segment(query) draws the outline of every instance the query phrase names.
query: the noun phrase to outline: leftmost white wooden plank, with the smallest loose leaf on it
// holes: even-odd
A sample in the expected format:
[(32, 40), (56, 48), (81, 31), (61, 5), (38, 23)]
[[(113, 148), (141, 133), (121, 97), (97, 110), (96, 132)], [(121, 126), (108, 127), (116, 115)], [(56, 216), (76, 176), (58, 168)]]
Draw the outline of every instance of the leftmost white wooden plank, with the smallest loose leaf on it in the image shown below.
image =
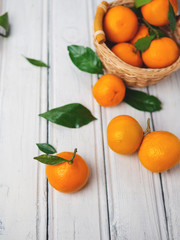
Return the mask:
[(3, 1), (11, 34), (0, 39), (0, 239), (46, 239), (44, 166), (33, 157), (46, 141), (46, 69), (28, 56), (47, 61), (47, 1)]

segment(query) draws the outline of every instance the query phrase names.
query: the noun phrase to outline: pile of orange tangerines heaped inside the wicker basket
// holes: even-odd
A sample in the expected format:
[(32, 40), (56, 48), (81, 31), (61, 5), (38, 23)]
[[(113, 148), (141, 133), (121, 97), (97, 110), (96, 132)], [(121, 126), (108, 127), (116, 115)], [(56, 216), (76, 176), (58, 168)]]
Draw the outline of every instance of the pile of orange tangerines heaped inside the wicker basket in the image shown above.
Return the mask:
[[(176, 15), (178, 3), (176, 0), (170, 2)], [(130, 8), (125, 6), (110, 8), (104, 17), (103, 26), (110, 45), (115, 44), (111, 51), (135, 67), (164, 68), (173, 64), (179, 57), (179, 48), (171, 38), (160, 37), (156, 28), (154, 28), (156, 37), (149, 48), (140, 52), (135, 47), (139, 39), (150, 36), (149, 28), (169, 24), (168, 11), (168, 0), (153, 0), (141, 7), (142, 18), (138, 22), (138, 17)]]

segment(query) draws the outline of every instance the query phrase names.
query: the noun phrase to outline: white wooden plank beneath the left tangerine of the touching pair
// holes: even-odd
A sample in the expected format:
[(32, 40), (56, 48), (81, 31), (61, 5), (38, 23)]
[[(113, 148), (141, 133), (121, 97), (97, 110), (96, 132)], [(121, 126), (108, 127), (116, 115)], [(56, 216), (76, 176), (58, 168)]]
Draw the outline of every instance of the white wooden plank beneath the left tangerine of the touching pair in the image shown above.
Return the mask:
[(111, 239), (167, 239), (159, 175), (144, 169), (137, 153), (123, 156), (108, 148), (107, 125), (121, 114), (137, 119), (143, 129), (150, 117), (125, 103), (102, 109)]

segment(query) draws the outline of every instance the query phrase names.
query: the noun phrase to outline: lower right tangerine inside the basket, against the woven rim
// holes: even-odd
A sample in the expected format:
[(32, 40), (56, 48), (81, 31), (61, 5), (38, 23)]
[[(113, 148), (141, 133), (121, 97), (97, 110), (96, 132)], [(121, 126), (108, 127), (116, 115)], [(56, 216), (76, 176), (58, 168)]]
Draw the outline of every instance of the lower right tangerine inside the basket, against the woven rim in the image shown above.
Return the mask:
[(151, 42), (150, 47), (142, 53), (142, 59), (150, 68), (163, 68), (173, 64), (179, 57), (179, 48), (171, 38), (163, 37)]

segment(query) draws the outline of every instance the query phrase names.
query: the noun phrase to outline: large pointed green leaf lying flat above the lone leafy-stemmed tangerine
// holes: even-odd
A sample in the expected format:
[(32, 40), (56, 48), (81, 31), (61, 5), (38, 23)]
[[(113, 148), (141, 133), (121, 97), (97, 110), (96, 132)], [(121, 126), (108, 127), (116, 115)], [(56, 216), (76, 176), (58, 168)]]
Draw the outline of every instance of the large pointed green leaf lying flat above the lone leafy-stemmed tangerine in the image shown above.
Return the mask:
[(96, 120), (91, 112), (80, 103), (71, 103), (54, 108), (48, 112), (39, 114), (39, 116), (68, 128), (79, 128)]

